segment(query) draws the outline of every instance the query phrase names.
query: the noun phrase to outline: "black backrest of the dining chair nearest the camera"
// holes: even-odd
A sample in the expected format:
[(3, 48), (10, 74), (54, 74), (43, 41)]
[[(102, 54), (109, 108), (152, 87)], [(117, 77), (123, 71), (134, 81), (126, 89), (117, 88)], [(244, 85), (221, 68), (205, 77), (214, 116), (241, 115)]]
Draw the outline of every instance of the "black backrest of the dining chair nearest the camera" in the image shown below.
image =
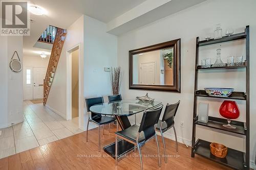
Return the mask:
[(145, 141), (156, 134), (155, 125), (158, 123), (162, 109), (163, 105), (161, 105), (161, 107), (156, 110), (144, 111), (141, 119), (139, 133), (144, 133)]

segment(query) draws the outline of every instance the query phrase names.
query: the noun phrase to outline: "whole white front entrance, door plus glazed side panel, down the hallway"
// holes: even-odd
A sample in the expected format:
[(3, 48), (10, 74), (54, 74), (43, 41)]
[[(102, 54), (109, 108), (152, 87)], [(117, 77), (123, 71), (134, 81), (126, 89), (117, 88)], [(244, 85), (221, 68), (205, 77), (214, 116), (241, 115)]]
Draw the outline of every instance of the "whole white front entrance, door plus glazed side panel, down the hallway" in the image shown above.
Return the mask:
[(42, 99), (44, 97), (44, 67), (25, 67), (24, 70), (24, 100)]

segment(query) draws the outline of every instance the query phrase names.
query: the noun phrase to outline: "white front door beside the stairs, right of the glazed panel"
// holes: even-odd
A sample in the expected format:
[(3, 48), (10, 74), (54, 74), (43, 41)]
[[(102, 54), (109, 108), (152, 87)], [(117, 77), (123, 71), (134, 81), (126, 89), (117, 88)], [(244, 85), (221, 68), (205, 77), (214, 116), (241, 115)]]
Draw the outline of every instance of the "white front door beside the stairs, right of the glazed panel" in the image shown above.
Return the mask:
[(46, 68), (33, 67), (33, 99), (44, 98)]

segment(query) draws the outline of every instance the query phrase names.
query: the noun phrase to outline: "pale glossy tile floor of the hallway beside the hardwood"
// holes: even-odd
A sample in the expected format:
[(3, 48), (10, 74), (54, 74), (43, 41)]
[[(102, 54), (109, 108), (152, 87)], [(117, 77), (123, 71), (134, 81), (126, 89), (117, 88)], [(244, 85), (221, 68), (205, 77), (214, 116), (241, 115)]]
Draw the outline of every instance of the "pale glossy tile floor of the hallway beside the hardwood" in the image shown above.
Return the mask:
[(30, 101), (24, 101), (24, 122), (0, 131), (0, 159), (83, 132), (78, 117), (65, 120)]

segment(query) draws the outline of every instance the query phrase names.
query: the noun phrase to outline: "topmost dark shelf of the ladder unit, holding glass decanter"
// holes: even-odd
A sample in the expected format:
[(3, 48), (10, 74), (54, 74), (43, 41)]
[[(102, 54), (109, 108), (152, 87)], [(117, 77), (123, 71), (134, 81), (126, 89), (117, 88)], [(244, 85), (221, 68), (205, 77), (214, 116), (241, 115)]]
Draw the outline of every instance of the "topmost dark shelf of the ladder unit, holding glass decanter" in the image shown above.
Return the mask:
[(212, 39), (209, 39), (209, 40), (198, 41), (197, 45), (204, 46), (204, 45), (210, 45), (210, 44), (217, 44), (217, 43), (221, 43), (221, 42), (241, 40), (241, 39), (245, 39), (245, 38), (246, 38), (245, 33), (239, 33), (239, 34), (233, 34), (233, 35), (230, 35), (230, 36), (223, 36), (220, 39), (212, 38)]

